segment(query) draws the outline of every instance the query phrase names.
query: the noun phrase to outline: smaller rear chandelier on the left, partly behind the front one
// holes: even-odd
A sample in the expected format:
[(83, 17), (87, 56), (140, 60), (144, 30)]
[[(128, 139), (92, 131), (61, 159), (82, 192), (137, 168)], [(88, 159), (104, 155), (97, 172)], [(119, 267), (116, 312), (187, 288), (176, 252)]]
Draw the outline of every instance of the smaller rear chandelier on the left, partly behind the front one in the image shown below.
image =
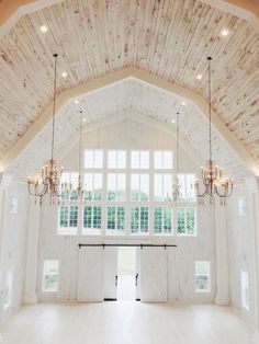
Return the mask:
[(78, 154), (78, 181), (61, 182), (63, 200), (69, 199), (72, 203), (82, 204), (85, 202), (85, 191), (81, 176), (81, 153), (82, 153), (82, 111), (79, 116), (79, 154)]

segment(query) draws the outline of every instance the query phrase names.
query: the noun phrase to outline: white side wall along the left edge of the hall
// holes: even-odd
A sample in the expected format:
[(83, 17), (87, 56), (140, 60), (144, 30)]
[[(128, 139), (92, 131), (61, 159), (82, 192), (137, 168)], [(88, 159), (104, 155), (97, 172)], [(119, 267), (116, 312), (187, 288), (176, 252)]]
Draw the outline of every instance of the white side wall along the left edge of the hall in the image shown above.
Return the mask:
[[(27, 191), (25, 185), (11, 182), (0, 188), (0, 322), (10, 318), (21, 306), (26, 248)], [(12, 276), (10, 306), (4, 307), (7, 276)]]

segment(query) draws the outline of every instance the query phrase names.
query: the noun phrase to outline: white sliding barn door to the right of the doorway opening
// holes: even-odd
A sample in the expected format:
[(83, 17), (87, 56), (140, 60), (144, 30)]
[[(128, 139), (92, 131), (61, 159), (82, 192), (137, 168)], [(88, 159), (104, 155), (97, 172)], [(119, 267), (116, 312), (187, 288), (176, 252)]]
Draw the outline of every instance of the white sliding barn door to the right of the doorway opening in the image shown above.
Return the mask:
[(165, 248), (140, 249), (140, 300), (167, 301), (167, 251)]

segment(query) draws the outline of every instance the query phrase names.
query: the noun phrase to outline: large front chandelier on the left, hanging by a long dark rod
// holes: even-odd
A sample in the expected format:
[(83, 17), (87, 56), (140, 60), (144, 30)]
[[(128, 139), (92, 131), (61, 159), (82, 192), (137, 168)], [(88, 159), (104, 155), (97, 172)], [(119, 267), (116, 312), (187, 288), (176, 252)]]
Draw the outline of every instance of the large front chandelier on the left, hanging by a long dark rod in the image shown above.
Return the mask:
[[(54, 54), (54, 91), (53, 91), (53, 130), (52, 130), (52, 158), (47, 163), (42, 167), (41, 177), (31, 179), (27, 177), (27, 190), (30, 195), (40, 199), (42, 205), (42, 198), (44, 195), (49, 196), (49, 204), (55, 204), (58, 200), (59, 204), (59, 184), (63, 174), (63, 168), (59, 168), (54, 160), (54, 144), (55, 144), (55, 112), (56, 112), (56, 83), (57, 83), (57, 57), (58, 54)], [(37, 198), (38, 197), (38, 198)]]

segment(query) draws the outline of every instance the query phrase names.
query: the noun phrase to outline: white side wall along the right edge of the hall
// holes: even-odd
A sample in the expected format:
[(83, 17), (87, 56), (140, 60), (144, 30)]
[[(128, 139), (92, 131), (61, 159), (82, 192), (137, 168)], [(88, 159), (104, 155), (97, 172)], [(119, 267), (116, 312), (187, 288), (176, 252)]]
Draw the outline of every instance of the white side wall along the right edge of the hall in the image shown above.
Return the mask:
[[(246, 204), (244, 215), (238, 213), (238, 203), (241, 199)], [(252, 213), (252, 198), (246, 184), (237, 185), (227, 203), (230, 302), (249, 321), (254, 321), (255, 318), (255, 293), (258, 293), (255, 290)], [(249, 311), (241, 306), (241, 271), (246, 271), (249, 275)]]

